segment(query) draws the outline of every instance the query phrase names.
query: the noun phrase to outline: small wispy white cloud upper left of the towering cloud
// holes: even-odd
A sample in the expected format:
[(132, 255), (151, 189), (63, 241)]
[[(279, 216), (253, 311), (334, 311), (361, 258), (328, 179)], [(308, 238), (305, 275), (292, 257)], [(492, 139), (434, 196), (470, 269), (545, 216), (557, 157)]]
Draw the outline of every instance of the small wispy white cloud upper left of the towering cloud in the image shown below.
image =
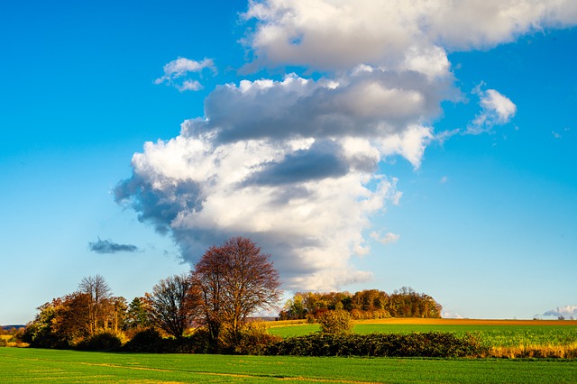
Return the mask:
[(213, 59), (203, 59), (202, 61), (179, 58), (170, 61), (163, 67), (164, 76), (154, 80), (154, 84), (166, 84), (177, 88), (180, 92), (197, 91), (203, 88), (198, 80), (187, 78), (191, 73), (200, 74), (204, 69), (212, 70), (216, 73)]

